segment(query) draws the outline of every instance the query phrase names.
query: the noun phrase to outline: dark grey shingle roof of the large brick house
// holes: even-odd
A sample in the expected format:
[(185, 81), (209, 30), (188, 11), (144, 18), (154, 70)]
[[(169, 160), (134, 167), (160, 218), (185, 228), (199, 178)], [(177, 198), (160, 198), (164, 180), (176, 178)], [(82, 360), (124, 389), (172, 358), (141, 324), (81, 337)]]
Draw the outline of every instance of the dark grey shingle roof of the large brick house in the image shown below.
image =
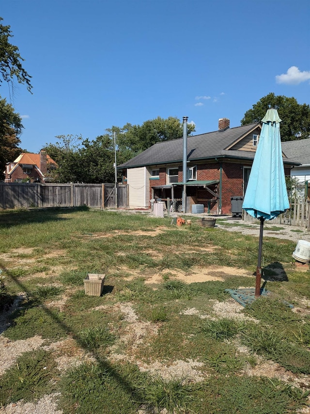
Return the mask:
[[(215, 158), (230, 158), (253, 160), (255, 152), (233, 149), (233, 146), (243, 139), (251, 131), (260, 127), (260, 122), (255, 122), (240, 127), (227, 128), (225, 130), (203, 133), (187, 137), (187, 160), (199, 161)], [(154, 166), (182, 162), (183, 138), (160, 142), (136, 157), (118, 166), (118, 168), (134, 168), (139, 166)], [(298, 165), (290, 159), (283, 159), (285, 164)]]

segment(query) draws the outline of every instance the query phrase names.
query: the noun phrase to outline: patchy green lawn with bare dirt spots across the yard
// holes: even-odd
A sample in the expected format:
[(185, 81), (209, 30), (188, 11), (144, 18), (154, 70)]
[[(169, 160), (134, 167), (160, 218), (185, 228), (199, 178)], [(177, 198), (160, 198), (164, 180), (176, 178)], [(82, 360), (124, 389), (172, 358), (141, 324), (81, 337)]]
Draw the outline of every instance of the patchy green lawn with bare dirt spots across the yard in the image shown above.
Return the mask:
[[(225, 289), (255, 286), (258, 238), (190, 218), (1, 211), (0, 407), (51, 395), (64, 414), (310, 412), (295, 243), (264, 237), (270, 295), (243, 308)], [(85, 295), (87, 273), (106, 274), (101, 297)]]

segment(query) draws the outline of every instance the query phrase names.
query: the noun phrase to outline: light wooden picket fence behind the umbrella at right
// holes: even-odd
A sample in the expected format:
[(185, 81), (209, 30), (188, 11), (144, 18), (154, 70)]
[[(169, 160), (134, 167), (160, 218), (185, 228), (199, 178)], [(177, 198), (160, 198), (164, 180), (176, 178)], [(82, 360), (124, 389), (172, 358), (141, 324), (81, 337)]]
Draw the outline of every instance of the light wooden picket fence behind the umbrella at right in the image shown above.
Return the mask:
[[(256, 218), (242, 210), (245, 221), (256, 221)], [(288, 224), (290, 226), (306, 227), (310, 230), (310, 201), (304, 197), (295, 197), (291, 202), (291, 208), (285, 213), (269, 221), (274, 224)]]

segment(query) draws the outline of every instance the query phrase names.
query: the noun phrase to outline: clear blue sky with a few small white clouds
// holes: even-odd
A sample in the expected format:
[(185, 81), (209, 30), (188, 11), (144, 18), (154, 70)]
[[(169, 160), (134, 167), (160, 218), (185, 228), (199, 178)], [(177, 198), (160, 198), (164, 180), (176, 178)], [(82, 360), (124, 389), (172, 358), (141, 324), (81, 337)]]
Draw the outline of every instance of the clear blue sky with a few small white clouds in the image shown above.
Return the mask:
[(31, 152), (157, 116), (239, 126), (270, 92), (310, 104), (308, 0), (2, 0), (0, 16), (32, 76), (33, 95), (0, 87)]

